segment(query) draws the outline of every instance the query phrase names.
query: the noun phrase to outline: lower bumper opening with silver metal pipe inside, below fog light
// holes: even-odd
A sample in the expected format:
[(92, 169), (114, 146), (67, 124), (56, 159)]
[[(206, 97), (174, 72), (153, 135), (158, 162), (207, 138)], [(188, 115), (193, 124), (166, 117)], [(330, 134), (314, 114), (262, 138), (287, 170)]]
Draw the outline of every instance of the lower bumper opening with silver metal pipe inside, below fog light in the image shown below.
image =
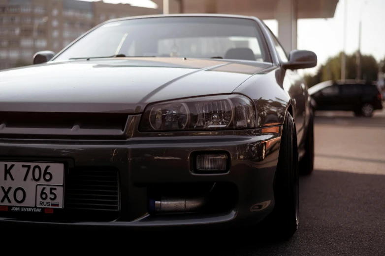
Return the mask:
[(230, 182), (164, 183), (148, 186), (151, 215), (222, 214), (234, 209), (238, 190)]

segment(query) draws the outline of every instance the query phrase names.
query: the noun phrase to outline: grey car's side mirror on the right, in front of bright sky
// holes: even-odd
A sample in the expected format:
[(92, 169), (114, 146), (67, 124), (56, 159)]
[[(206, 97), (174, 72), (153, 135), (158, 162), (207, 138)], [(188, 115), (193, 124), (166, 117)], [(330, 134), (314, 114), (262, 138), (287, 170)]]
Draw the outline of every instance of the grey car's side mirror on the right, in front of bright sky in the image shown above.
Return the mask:
[(317, 66), (317, 55), (313, 51), (293, 50), (290, 51), (289, 61), (284, 63), (285, 69), (308, 69)]

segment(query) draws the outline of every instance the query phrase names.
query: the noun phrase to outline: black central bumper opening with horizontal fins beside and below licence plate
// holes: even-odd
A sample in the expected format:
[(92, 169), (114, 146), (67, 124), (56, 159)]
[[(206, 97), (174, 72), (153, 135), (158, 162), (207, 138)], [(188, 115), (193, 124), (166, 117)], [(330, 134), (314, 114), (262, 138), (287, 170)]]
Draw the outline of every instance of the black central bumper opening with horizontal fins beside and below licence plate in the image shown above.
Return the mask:
[[(18, 208), (12, 211), (12, 208)], [(116, 168), (69, 168), (64, 178), (64, 208), (7, 206), (0, 217), (22, 221), (74, 223), (79, 221), (109, 222), (120, 217), (120, 182)], [(30, 207), (27, 207), (30, 208)]]

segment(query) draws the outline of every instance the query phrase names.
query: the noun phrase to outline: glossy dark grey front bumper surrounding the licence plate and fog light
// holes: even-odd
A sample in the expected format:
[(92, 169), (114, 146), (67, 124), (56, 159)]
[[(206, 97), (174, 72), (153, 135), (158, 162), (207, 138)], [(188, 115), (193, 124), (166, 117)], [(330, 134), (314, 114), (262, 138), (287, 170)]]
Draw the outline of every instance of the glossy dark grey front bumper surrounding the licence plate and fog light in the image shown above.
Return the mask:
[[(275, 126), (237, 132), (197, 132), (191, 136), (132, 136), (122, 141), (1, 139), (0, 159), (3, 161), (61, 161), (72, 171), (87, 167), (115, 168), (120, 196), (119, 211), (106, 219), (93, 220), (91, 217), (100, 213), (94, 210), (82, 211), (81, 218), (76, 211), (71, 217), (62, 213), (60, 218), (55, 212), (35, 217), (32, 213), (16, 216), (12, 212), (0, 211), (0, 222), (22, 226), (138, 230), (256, 224), (274, 207), (273, 181), (281, 131), (282, 126)], [(219, 151), (229, 155), (228, 172), (193, 172), (194, 153)], [(172, 191), (173, 185), (199, 187), (205, 183), (223, 185), (213, 199), (221, 202), (223, 208), (161, 215), (149, 210), (150, 188), (156, 191), (167, 187)], [(174, 196), (179, 196), (178, 193), (175, 189)], [(65, 206), (64, 197), (64, 210)]]

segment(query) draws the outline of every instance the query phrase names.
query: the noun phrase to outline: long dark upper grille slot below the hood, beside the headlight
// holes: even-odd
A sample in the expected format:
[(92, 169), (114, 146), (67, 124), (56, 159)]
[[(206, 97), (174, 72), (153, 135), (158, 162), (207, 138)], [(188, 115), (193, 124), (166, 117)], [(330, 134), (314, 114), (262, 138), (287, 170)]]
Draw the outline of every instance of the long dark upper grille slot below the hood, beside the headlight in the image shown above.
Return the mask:
[(123, 136), (128, 114), (1, 112), (1, 137), (92, 137)]

